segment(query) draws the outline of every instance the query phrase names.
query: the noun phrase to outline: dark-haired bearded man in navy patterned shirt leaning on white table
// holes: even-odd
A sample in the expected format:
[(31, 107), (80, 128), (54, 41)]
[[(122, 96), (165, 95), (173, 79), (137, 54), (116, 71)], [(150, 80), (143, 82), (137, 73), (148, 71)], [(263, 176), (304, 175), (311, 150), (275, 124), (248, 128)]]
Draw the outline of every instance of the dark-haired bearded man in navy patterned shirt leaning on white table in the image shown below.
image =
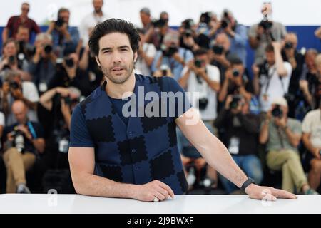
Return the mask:
[[(238, 187), (243, 186), (250, 197), (295, 199), (289, 192), (253, 184), (235, 165), (224, 145), (193, 115), (194, 110), (188, 104), (174, 99), (171, 103), (175, 107), (165, 110), (166, 117), (148, 117), (149, 111), (136, 117), (137, 112), (142, 114), (141, 110), (150, 104), (145, 107), (143, 102), (135, 107), (133, 98), (129, 102), (134, 106), (133, 115), (127, 115), (123, 111), (123, 108), (128, 110), (126, 98), (137, 97), (138, 88), (153, 95), (162, 91), (180, 92), (180, 102), (188, 103), (183, 89), (173, 78), (133, 73), (138, 43), (139, 35), (133, 24), (116, 19), (98, 24), (89, 40), (106, 81), (73, 110), (68, 157), (78, 194), (157, 202), (173, 197), (174, 192), (185, 192), (187, 183), (175, 142), (175, 125), (178, 125), (208, 164)], [(159, 103), (158, 98), (152, 102)]]

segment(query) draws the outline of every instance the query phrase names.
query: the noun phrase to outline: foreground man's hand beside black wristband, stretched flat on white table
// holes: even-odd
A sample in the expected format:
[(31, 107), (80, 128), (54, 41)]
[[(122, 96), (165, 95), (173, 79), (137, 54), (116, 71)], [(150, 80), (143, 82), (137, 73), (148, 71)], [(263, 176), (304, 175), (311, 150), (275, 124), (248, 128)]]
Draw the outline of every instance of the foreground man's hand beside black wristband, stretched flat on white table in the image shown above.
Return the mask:
[(251, 199), (265, 199), (267, 201), (275, 201), (277, 198), (297, 199), (297, 196), (285, 190), (278, 190), (273, 187), (265, 187), (251, 184), (245, 188), (246, 194)]

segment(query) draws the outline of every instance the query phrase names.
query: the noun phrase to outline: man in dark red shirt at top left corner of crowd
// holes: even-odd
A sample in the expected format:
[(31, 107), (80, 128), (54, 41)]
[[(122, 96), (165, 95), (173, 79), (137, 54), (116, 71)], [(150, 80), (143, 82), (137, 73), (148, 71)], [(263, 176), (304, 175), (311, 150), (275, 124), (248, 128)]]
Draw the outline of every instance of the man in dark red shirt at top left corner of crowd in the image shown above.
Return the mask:
[(31, 32), (40, 33), (40, 28), (36, 22), (28, 17), (29, 9), (29, 4), (24, 2), (21, 4), (21, 14), (19, 16), (11, 16), (2, 32), (2, 42), (6, 42), (10, 37), (16, 38), (16, 33), (21, 25), (29, 28), (29, 38), (31, 37)]

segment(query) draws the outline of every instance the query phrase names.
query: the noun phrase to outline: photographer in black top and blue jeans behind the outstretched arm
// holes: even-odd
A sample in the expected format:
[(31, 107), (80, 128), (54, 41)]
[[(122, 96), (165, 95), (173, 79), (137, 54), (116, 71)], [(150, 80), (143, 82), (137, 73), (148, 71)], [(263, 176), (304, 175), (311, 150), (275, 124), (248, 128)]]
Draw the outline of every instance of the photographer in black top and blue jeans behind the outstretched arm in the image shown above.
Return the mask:
[[(228, 95), (225, 108), (214, 121), (216, 128), (225, 129), (223, 142), (240, 168), (260, 184), (263, 170), (258, 158), (258, 133), (260, 117), (249, 112), (250, 103), (242, 95)], [(220, 176), (225, 190), (230, 194), (238, 187)]]

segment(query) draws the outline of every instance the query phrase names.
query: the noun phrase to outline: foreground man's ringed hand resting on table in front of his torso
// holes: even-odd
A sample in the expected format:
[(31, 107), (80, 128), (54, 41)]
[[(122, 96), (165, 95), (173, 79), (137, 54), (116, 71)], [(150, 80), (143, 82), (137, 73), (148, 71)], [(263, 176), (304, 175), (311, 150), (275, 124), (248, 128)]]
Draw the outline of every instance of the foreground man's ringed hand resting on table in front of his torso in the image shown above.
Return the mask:
[(173, 198), (174, 192), (168, 185), (159, 180), (153, 180), (145, 185), (136, 185), (133, 195), (134, 199), (152, 202), (155, 197), (163, 201), (164, 199), (168, 199), (168, 197)]

